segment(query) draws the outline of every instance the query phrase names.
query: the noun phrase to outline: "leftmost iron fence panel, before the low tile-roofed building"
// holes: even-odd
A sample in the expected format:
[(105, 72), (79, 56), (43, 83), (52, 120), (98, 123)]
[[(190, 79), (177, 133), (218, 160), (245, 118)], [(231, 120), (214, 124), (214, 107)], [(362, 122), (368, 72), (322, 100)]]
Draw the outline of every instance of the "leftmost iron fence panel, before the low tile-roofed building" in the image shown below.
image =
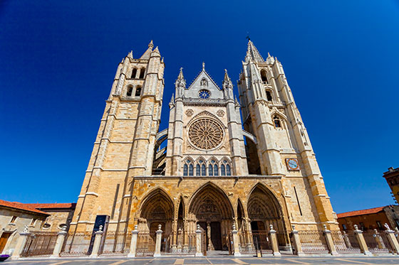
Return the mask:
[(31, 232), (21, 256), (49, 256), (53, 254), (58, 232)]

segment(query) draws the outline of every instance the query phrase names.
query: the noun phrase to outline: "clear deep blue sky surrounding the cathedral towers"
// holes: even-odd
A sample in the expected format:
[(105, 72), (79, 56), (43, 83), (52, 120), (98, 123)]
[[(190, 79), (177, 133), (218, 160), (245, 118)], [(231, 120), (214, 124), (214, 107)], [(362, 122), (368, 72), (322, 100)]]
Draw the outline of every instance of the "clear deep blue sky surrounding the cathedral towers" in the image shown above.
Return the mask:
[[(336, 212), (393, 204), (398, 1), (0, 1), (0, 199), (75, 202), (116, 66), (151, 39), (167, 102), (180, 67), (237, 80), (247, 32), (279, 58)], [(237, 85), (234, 85), (237, 93)]]

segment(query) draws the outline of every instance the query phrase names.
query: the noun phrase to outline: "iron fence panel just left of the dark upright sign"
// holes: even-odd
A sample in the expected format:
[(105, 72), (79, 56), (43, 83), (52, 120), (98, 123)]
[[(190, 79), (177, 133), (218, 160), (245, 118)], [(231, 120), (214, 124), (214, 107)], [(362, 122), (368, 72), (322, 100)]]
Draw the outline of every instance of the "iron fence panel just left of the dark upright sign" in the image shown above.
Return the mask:
[(93, 248), (93, 232), (70, 232), (67, 234), (61, 256), (85, 256), (90, 255)]

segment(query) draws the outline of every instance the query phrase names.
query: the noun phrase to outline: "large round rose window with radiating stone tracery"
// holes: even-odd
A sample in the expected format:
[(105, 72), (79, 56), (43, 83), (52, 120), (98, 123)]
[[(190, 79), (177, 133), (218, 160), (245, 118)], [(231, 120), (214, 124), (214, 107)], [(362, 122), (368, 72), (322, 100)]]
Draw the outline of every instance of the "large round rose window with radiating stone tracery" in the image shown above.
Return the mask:
[(212, 149), (222, 143), (223, 129), (216, 121), (202, 118), (195, 121), (188, 131), (192, 144), (201, 149)]

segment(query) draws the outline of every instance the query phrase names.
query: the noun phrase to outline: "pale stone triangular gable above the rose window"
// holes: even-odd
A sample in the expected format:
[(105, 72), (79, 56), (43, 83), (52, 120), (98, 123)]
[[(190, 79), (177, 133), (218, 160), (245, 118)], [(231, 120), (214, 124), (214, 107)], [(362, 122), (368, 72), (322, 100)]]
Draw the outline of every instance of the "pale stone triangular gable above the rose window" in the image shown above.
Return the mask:
[(200, 90), (208, 90), (210, 92), (209, 98), (211, 99), (223, 99), (223, 91), (207, 73), (204, 64), (202, 65), (201, 72), (192, 81), (190, 87), (185, 90), (185, 97), (199, 98), (198, 93)]

